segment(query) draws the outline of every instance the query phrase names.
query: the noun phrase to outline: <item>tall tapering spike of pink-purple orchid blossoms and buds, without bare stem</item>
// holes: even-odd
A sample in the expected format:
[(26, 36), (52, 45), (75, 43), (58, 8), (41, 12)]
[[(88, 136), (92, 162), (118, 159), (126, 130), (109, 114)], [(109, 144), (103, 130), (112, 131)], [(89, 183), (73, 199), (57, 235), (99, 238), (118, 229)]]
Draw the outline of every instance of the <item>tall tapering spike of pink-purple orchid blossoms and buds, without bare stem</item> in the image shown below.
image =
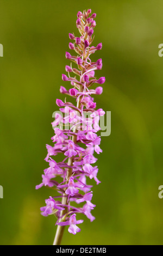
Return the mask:
[[(91, 15), (91, 9), (78, 12), (76, 25), (80, 36), (69, 34), (72, 40), (69, 44), (70, 50), (74, 50), (77, 56), (66, 52), (66, 59), (71, 61), (70, 66), (66, 65), (68, 75), (62, 74), (63, 81), (71, 82), (71, 89), (60, 87), (60, 93), (71, 96), (72, 102), (57, 99), (56, 103), (60, 108), (60, 113), (55, 114), (52, 123), (54, 136), (53, 146), (46, 145), (47, 156), (45, 160), (49, 167), (44, 170), (42, 182), (36, 189), (42, 186), (54, 187), (59, 192), (59, 196), (46, 199), (46, 206), (41, 208), (41, 214), (57, 216), (57, 225), (70, 225), (68, 231), (76, 234), (80, 231), (76, 224), (83, 220), (76, 220), (76, 214), (82, 213), (90, 219), (95, 220), (91, 210), (95, 204), (91, 203), (93, 192), (91, 185), (86, 184), (86, 179), (94, 179), (97, 184), (101, 181), (97, 178), (98, 168), (95, 166), (97, 158), (95, 152), (100, 154), (99, 147), (101, 137), (97, 135), (100, 130), (99, 118), (104, 115), (103, 109), (96, 108), (93, 94), (102, 94), (103, 88), (97, 86), (90, 89), (94, 84), (103, 84), (105, 77), (96, 79), (95, 70), (102, 69), (102, 59), (92, 62), (90, 55), (97, 50), (101, 50), (102, 43), (96, 47), (91, 46), (93, 32), (96, 26), (96, 14)], [(74, 68), (72, 64), (77, 66)], [(67, 128), (67, 125), (69, 127)], [(62, 154), (62, 161), (56, 162), (52, 156)], [(62, 180), (57, 182), (55, 177)], [(59, 179), (58, 179), (59, 180)], [(58, 201), (57, 199), (61, 199)], [(72, 206), (73, 205), (75, 206)], [(79, 206), (79, 204), (82, 206)]]

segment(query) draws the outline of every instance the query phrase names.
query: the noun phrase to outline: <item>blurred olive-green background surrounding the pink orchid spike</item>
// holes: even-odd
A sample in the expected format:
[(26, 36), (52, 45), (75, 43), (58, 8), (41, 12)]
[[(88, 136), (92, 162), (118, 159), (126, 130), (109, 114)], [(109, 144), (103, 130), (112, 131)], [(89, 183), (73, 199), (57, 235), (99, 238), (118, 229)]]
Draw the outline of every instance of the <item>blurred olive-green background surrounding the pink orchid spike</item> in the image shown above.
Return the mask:
[[(65, 230), (63, 245), (161, 245), (162, 68), (161, 0), (1, 0), (0, 59), (1, 245), (51, 245), (55, 218), (40, 215), (51, 190), (41, 182), (51, 144), (52, 113), (65, 73), (68, 33), (78, 35), (77, 12), (97, 13), (92, 60), (103, 59), (98, 107), (111, 111), (111, 135), (102, 137), (93, 187), (96, 220), (84, 218), (77, 235)], [(96, 97), (97, 98), (97, 97)], [(94, 182), (95, 184), (95, 182)]]

